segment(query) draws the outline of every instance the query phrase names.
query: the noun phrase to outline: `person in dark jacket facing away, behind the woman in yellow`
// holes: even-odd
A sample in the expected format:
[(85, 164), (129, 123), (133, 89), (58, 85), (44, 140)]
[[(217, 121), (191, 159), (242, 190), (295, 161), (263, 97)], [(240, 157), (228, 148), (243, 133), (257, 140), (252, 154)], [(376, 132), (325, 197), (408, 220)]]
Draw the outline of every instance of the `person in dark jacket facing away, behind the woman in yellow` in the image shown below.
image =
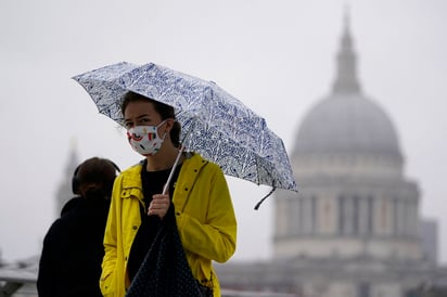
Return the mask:
[(112, 188), (119, 168), (92, 157), (73, 176), (73, 192), (43, 240), (37, 290), (40, 297), (102, 296), (103, 237)]

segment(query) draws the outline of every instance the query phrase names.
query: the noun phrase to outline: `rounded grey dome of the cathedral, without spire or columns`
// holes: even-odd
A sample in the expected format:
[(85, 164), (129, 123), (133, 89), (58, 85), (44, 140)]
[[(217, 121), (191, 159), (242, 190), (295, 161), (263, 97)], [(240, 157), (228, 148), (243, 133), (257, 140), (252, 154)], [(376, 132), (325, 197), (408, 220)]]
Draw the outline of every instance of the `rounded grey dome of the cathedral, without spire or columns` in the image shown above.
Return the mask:
[(401, 158), (389, 117), (359, 93), (335, 93), (304, 118), (295, 154), (374, 154)]

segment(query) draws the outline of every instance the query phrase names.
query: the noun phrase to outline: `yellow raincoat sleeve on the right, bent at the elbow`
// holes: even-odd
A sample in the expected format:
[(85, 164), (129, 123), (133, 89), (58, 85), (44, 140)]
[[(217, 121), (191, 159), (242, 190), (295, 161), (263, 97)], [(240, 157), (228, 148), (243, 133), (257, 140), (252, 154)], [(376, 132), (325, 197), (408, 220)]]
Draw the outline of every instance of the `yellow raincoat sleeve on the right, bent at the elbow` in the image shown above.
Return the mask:
[(225, 262), (235, 251), (237, 220), (220, 168), (206, 165), (193, 189), (184, 211), (176, 208), (183, 247), (203, 258)]

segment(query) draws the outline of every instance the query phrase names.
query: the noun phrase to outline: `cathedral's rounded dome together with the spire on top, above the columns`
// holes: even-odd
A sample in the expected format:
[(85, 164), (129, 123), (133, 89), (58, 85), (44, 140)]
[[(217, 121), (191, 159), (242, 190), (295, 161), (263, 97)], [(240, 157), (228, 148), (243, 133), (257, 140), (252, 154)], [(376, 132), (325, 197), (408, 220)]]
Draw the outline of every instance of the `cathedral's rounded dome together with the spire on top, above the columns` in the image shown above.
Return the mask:
[(337, 54), (332, 92), (305, 116), (295, 139), (294, 156), (368, 155), (401, 163), (398, 138), (391, 118), (360, 90), (347, 24)]

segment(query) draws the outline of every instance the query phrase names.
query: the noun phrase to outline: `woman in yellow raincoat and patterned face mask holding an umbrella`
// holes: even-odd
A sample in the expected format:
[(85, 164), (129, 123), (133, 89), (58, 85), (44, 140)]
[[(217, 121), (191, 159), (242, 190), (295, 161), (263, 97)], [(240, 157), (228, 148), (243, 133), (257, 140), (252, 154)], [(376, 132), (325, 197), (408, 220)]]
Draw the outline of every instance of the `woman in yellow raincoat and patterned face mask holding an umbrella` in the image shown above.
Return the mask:
[(144, 162), (116, 180), (104, 235), (101, 290), (124, 296), (156, 235), (159, 221), (175, 208), (178, 233), (192, 274), (220, 296), (212, 261), (235, 250), (237, 221), (220, 168), (199, 154), (180, 155), (171, 182), (164, 185), (179, 154), (180, 125), (174, 108), (129, 92), (122, 104), (131, 147)]

